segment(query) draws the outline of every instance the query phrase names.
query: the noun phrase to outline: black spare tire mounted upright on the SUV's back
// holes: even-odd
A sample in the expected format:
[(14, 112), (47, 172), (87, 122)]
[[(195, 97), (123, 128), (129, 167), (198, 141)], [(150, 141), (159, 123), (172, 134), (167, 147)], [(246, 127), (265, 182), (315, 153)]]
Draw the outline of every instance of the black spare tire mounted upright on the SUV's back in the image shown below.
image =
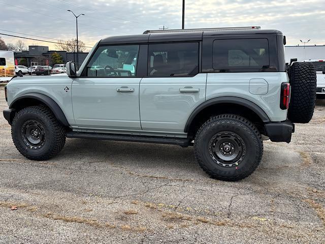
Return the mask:
[(293, 123), (308, 123), (316, 102), (316, 70), (312, 63), (296, 62), (289, 68), (291, 96), (288, 118)]

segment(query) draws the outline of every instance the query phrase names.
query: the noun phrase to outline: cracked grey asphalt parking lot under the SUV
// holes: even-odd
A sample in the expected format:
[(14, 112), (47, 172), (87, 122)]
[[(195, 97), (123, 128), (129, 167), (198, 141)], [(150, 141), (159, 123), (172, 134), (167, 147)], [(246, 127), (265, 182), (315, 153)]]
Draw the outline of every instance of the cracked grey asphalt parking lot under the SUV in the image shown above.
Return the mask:
[(210, 179), (192, 147), (173, 145), (67, 139), (30, 161), (10, 130), (1, 116), (0, 243), (325, 242), (325, 100), (290, 144), (264, 141), (238, 182)]

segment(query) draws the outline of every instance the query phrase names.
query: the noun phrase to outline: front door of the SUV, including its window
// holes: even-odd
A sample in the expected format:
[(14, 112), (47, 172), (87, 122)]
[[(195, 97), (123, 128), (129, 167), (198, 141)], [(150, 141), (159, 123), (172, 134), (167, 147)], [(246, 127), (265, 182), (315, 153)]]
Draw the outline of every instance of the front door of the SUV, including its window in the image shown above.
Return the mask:
[(72, 104), (79, 128), (141, 130), (139, 45), (100, 46), (81, 77), (72, 83)]

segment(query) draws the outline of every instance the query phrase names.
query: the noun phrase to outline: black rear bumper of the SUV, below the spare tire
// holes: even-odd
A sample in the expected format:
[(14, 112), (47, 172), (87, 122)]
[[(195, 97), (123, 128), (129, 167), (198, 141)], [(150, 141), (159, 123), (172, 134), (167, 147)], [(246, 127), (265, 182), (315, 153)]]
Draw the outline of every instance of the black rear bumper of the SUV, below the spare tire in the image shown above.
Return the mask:
[(290, 120), (265, 124), (265, 129), (271, 141), (291, 141), (291, 134), (295, 132), (295, 124)]

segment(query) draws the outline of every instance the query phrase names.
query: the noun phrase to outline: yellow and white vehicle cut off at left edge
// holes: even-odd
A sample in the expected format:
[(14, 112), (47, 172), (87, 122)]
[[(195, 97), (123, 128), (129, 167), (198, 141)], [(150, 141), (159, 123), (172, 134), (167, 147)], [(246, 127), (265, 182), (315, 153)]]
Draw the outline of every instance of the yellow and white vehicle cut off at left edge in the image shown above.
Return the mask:
[(14, 52), (0, 51), (0, 82), (8, 82), (15, 75)]

